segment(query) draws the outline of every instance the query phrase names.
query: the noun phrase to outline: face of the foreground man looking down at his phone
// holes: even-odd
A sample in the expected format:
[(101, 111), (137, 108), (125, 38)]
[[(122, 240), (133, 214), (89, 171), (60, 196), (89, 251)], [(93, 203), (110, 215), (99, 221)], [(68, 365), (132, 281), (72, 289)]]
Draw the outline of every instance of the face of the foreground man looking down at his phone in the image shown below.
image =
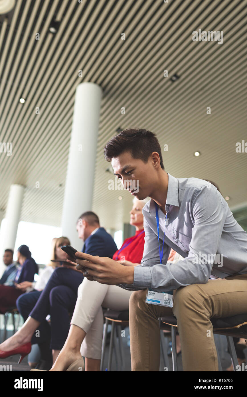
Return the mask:
[(147, 163), (144, 163), (140, 159), (133, 158), (130, 152), (123, 152), (112, 158), (111, 165), (124, 188), (134, 197), (138, 200), (150, 197), (157, 183), (157, 172), (153, 166), (152, 156), (149, 157)]

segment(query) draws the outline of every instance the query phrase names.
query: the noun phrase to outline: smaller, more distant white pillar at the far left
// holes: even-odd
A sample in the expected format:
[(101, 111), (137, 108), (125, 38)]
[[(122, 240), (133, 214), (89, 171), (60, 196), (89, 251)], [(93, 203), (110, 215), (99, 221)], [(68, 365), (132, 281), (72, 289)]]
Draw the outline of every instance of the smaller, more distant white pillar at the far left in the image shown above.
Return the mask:
[(6, 248), (15, 248), (15, 239), (21, 215), (21, 206), (24, 195), (24, 186), (22, 185), (11, 185), (10, 194), (8, 198), (8, 204), (5, 214), (5, 225), (4, 230), (1, 230), (1, 260), (0, 260), (0, 274), (4, 269), (2, 262), (2, 255)]

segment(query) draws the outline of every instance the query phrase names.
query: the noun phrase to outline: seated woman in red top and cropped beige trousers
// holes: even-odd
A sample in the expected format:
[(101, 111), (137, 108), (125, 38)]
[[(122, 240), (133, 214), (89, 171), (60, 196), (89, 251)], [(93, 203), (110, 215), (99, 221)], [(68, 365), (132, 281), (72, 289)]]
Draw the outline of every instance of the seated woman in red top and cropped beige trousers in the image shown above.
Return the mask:
[[(113, 259), (125, 266), (137, 266), (144, 249), (144, 227), (142, 208), (149, 198), (134, 198), (130, 211), (130, 224), (136, 228), (134, 236), (124, 240)], [(117, 285), (100, 284), (84, 278), (78, 288), (78, 298), (71, 320), (69, 335), (51, 371), (66, 371), (73, 362), (75, 371), (79, 367), (86, 371), (100, 371), (101, 344), (103, 335), (102, 306), (112, 310), (128, 310), (132, 291)]]

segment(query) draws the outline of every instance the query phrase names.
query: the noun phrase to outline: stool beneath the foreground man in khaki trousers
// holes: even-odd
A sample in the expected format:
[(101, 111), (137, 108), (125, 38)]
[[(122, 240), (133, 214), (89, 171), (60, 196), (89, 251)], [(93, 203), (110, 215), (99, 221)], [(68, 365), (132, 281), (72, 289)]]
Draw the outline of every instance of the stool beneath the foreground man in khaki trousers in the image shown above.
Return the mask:
[[(177, 319), (175, 316), (164, 316), (161, 318), (164, 324), (171, 326), (172, 332), (172, 368), (173, 371), (178, 370), (177, 354), (176, 354), (176, 328)], [(247, 314), (237, 314), (236, 316), (224, 318), (211, 318), (213, 324), (213, 333), (218, 335), (225, 335), (228, 343), (228, 348), (232, 360), (232, 366), (236, 371), (236, 366), (239, 365), (237, 361), (236, 349), (234, 346), (233, 337), (247, 339)], [(220, 357), (216, 346), (218, 355), (219, 371), (222, 371)], [(182, 352), (183, 354), (183, 352)]]

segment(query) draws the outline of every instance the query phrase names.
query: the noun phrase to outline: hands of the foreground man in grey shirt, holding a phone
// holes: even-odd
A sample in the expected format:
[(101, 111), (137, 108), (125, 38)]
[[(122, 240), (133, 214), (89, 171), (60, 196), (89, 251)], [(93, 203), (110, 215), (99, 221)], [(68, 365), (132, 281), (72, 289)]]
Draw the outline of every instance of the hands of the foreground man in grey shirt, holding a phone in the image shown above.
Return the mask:
[(108, 257), (93, 256), (76, 252), (77, 269), (82, 270), (88, 280), (101, 284), (118, 285), (134, 283), (134, 266), (123, 266)]

